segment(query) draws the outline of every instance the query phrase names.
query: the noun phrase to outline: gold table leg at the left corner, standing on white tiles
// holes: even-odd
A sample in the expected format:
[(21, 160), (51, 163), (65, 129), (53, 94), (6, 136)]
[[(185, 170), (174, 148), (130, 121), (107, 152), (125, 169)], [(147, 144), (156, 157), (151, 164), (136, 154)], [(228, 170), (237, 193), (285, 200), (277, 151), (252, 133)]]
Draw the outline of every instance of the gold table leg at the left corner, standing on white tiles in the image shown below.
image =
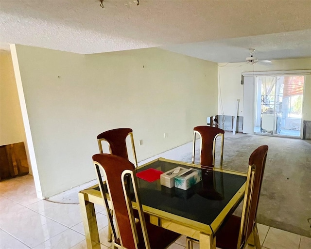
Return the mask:
[(101, 249), (94, 203), (86, 201), (85, 194), (79, 193), (78, 195), (87, 249)]

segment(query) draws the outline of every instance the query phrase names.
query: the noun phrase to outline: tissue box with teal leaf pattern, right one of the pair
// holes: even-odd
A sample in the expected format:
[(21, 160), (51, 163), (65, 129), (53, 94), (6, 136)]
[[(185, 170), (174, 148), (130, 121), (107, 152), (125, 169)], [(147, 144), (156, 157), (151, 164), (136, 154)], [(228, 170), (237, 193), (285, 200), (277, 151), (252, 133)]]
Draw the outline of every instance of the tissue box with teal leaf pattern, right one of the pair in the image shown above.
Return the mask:
[(202, 171), (189, 169), (174, 178), (174, 186), (183, 190), (187, 190), (200, 181), (202, 181)]

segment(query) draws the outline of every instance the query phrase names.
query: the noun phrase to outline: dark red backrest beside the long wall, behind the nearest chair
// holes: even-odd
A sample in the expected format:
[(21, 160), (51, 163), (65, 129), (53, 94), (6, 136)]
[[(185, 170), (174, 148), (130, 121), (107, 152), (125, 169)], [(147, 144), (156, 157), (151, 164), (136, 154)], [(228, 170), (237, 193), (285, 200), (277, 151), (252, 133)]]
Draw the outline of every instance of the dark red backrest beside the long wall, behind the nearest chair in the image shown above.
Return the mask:
[(104, 131), (103, 133), (97, 136), (99, 152), (103, 154), (103, 145), (102, 141), (106, 141), (109, 145), (110, 154), (121, 156), (125, 159), (128, 159), (127, 147), (126, 147), (126, 138), (127, 136), (131, 137), (133, 156), (135, 161), (135, 166), (137, 167), (137, 158), (133, 138), (133, 130), (131, 128), (117, 128), (112, 130)]

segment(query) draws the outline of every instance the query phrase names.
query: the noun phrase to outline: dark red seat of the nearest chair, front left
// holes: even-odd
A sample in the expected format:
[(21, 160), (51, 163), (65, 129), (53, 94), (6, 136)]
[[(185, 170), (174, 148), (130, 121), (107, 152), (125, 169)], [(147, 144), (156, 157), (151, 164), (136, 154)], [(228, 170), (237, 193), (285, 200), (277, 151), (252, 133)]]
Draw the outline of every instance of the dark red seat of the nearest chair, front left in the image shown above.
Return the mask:
[[(146, 220), (147, 221), (147, 220)], [(136, 224), (138, 232), (138, 248), (145, 249), (145, 244), (143, 243), (144, 238), (141, 233), (141, 226), (139, 223)], [(149, 237), (149, 243), (151, 249), (165, 249), (168, 245), (172, 244), (179, 236), (179, 233), (174, 233), (165, 228), (155, 226), (150, 222), (146, 222), (147, 233)]]

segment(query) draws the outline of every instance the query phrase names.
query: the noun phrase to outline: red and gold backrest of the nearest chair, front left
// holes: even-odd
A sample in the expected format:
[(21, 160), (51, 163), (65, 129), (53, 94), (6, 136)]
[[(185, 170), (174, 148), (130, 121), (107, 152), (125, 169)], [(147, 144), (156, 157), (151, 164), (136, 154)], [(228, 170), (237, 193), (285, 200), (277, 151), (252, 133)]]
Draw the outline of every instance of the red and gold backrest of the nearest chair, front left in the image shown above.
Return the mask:
[[(123, 172), (126, 172), (131, 175), (132, 180), (131, 183), (133, 185), (134, 190), (136, 190), (136, 180), (133, 177), (133, 170), (135, 169), (135, 166), (130, 161), (122, 158), (121, 156), (115, 156), (110, 154), (94, 155), (93, 163), (96, 169), (97, 179), (99, 182), (102, 198), (104, 200), (107, 209), (107, 214), (109, 216), (108, 221), (112, 228), (114, 243), (119, 244), (121, 245), (121, 247), (127, 249), (137, 249), (138, 235), (136, 231), (133, 209), (128, 208), (128, 205), (129, 203), (131, 203), (131, 200), (130, 197), (128, 197), (128, 195), (125, 195), (125, 191), (123, 190), (123, 186), (128, 188), (127, 180), (129, 179), (128, 177), (125, 176)], [(110, 215), (109, 212), (109, 205), (107, 202), (106, 191), (102, 180), (100, 168), (102, 168), (102, 170), (104, 171), (107, 190), (112, 203), (114, 216), (116, 218), (116, 223), (120, 235), (119, 239), (117, 238), (116, 229), (113, 224), (112, 216)], [(137, 195), (137, 191), (134, 192), (137, 205), (138, 207), (140, 207), (140, 209), (138, 208), (140, 224), (143, 229), (142, 230), (143, 234), (145, 235), (147, 233), (144, 233), (146, 232), (144, 216), (142, 215), (142, 209)], [(148, 241), (147, 235), (146, 238)], [(149, 245), (149, 241), (147, 242), (147, 245)]]

